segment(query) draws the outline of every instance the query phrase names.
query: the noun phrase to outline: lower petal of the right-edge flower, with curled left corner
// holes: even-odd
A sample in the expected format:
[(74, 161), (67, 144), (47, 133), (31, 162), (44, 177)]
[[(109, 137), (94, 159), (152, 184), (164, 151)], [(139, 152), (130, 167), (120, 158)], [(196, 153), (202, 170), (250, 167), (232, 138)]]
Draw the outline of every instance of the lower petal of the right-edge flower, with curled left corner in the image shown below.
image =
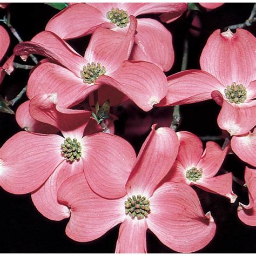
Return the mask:
[(212, 98), (222, 104), (217, 122), (220, 129), (228, 131), (232, 135), (245, 134), (256, 124), (256, 102), (229, 103), (223, 99), (218, 91), (212, 92)]

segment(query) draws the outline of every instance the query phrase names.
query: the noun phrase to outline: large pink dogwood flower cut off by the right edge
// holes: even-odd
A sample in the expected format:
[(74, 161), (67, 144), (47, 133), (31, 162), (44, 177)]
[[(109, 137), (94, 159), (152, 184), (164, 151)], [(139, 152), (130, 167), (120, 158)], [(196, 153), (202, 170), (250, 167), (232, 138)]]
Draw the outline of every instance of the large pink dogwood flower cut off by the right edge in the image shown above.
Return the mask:
[(221, 105), (218, 125), (231, 135), (256, 123), (255, 37), (244, 29), (212, 33), (200, 57), (202, 70), (167, 78), (169, 90), (158, 106), (190, 104), (213, 98)]

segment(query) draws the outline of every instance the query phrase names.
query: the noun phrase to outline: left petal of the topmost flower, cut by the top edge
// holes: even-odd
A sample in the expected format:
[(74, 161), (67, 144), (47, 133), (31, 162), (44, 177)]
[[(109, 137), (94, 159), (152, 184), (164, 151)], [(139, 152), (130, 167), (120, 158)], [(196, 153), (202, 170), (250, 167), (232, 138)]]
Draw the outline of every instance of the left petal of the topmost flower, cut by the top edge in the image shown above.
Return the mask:
[(90, 35), (99, 26), (112, 28), (114, 25), (109, 20), (106, 21), (106, 17), (98, 9), (90, 4), (79, 3), (65, 8), (51, 18), (45, 30), (68, 40)]

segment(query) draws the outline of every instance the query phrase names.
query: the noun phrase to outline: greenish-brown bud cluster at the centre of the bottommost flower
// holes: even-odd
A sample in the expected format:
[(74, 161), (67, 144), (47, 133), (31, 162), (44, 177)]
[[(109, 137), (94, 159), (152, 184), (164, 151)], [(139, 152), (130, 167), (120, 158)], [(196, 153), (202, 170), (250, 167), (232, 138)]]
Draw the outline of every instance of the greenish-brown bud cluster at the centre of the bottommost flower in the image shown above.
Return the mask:
[(127, 201), (124, 202), (125, 205), (125, 214), (129, 214), (129, 216), (134, 219), (143, 219), (147, 217), (150, 213), (150, 201), (146, 199), (146, 197), (140, 196), (132, 196), (132, 198), (127, 198)]

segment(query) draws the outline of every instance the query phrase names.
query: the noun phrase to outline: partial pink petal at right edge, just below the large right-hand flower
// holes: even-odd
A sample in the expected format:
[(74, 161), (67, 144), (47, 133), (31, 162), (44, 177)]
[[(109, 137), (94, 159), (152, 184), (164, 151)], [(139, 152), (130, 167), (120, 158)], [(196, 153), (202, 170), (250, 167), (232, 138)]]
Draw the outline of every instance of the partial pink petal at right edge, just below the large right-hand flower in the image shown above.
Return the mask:
[(256, 130), (246, 136), (233, 136), (231, 148), (241, 160), (256, 167)]

